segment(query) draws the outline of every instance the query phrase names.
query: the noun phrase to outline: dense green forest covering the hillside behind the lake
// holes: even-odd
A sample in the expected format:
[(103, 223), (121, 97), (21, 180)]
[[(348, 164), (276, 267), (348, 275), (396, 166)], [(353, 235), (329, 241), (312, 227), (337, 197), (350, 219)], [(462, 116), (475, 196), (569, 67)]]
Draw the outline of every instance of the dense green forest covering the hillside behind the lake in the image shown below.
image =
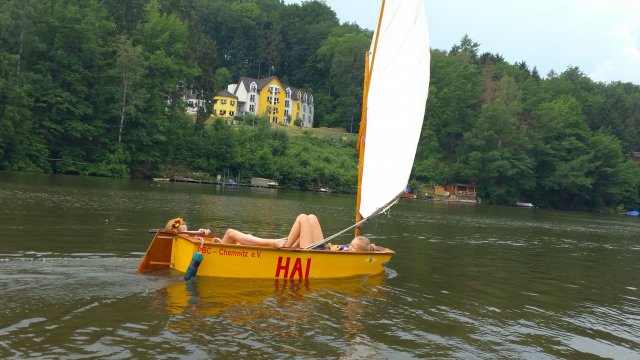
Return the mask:
[[(356, 183), (353, 136), (371, 31), (321, 1), (5, 0), (0, 3), (0, 170), (112, 177), (220, 173), (282, 185)], [(539, 74), (465, 36), (432, 49), (411, 184), (474, 183), (484, 202), (640, 207), (640, 86), (579, 68)], [(213, 94), (240, 76), (310, 91), (319, 135), (230, 126)], [(205, 106), (187, 116), (183, 94)], [(402, 104), (390, 106), (402, 107)], [(393, 121), (393, 119), (389, 119)]]

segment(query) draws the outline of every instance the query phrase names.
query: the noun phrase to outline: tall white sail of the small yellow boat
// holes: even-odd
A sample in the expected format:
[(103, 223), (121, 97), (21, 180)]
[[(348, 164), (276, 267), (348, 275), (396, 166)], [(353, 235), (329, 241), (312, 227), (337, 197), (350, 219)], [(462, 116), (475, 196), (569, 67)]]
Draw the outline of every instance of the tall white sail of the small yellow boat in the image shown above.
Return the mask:
[(375, 42), (376, 34), (360, 189), (365, 218), (405, 189), (413, 166), (429, 90), (425, 0), (385, 0)]

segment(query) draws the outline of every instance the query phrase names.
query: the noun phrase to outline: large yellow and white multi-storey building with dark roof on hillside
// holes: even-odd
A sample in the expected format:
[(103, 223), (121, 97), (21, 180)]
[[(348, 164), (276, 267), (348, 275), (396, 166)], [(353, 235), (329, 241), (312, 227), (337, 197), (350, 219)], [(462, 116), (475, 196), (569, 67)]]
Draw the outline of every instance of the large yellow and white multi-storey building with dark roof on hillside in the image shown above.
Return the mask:
[(275, 76), (242, 77), (237, 84), (228, 85), (227, 92), (236, 96), (239, 116), (266, 115), (274, 124), (293, 126), (299, 120), (301, 126), (313, 126), (313, 95), (283, 84)]

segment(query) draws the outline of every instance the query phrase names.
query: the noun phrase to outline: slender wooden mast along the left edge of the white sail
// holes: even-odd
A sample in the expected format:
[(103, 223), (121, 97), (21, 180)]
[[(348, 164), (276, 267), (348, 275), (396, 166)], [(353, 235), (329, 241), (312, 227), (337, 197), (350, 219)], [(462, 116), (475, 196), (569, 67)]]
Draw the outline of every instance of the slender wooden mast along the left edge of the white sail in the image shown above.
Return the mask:
[[(358, 140), (356, 142), (356, 151), (358, 152), (358, 189), (356, 195), (356, 224), (362, 220), (360, 214), (360, 201), (362, 190), (362, 171), (364, 170), (364, 151), (365, 138), (367, 134), (367, 100), (369, 98), (369, 84), (371, 83), (371, 70), (376, 59), (376, 49), (378, 47), (378, 38), (380, 37), (380, 25), (382, 24), (382, 15), (384, 14), (384, 3), (382, 0), (380, 5), (380, 16), (378, 16), (378, 25), (376, 27), (376, 35), (373, 45), (373, 53), (367, 50), (365, 53), (364, 63), (364, 81), (362, 90), (362, 115), (360, 117), (360, 128), (358, 129)], [(360, 228), (355, 228), (355, 236), (360, 235)]]

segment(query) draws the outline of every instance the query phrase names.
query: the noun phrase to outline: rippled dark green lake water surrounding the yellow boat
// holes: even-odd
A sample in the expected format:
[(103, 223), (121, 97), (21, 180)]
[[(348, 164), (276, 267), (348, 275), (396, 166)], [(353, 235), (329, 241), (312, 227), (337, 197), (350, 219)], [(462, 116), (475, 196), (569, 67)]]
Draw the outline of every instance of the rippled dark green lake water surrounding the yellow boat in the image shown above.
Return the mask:
[(637, 217), (403, 200), (363, 230), (397, 252), (381, 276), (135, 272), (173, 217), (272, 237), (315, 213), (331, 234), (353, 203), (0, 172), (0, 358), (640, 359)]

